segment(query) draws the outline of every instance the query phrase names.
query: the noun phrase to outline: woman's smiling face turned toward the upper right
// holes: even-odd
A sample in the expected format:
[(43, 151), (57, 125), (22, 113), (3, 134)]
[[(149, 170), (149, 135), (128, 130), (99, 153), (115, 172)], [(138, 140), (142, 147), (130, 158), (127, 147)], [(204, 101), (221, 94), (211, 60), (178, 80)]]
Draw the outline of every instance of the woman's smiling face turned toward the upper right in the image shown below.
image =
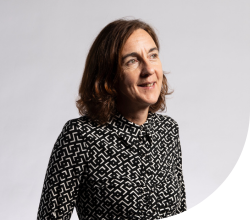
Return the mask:
[(154, 40), (143, 29), (134, 31), (122, 50), (118, 103), (148, 108), (158, 100), (162, 78), (162, 65)]

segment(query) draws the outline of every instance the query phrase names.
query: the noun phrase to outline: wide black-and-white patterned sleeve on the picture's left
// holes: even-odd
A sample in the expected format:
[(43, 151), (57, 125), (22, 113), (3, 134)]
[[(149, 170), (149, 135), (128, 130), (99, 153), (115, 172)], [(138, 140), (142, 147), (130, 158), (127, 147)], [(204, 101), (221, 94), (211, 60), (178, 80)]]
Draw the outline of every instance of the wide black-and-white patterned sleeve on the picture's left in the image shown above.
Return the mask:
[(86, 169), (86, 149), (79, 134), (77, 123), (69, 120), (54, 144), (45, 175), (37, 220), (71, 218)]

